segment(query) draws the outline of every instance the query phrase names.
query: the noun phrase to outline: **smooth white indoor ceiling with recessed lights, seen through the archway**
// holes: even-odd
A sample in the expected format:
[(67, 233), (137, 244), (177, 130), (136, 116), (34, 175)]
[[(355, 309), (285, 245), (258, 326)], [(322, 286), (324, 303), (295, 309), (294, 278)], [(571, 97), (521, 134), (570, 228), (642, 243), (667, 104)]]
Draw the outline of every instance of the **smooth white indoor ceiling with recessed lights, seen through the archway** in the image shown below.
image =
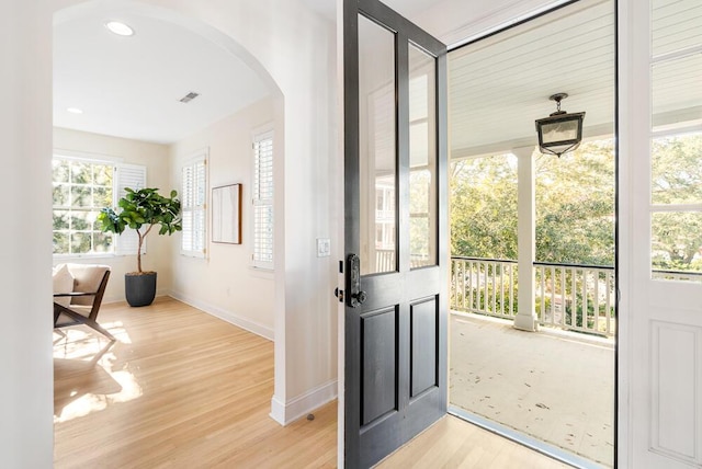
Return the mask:
[[(136, 34), (110, 33), (109, 20), (129, 24)], [(191, 91), (200, 96), (181, 103)], [(57, 127), (168, 144), (267, 94), (236, 55), (168, 21), (105, 8), (54, 28)]]

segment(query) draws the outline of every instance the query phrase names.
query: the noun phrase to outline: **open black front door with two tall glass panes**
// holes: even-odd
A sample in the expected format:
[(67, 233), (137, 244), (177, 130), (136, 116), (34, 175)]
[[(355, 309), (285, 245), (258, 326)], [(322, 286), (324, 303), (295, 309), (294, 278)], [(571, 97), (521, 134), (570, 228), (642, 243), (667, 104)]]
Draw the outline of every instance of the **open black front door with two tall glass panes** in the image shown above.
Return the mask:
[(446, 411), (446, 48), (376, 0), (344, 1), (349, 468)]

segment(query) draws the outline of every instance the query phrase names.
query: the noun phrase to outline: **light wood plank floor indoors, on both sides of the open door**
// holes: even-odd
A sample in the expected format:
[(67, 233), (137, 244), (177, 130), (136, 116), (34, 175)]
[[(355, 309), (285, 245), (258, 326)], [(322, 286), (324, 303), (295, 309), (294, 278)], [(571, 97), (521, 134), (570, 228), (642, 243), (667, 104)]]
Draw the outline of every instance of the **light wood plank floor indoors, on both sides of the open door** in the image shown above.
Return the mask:
[[(281, 427), (269, 417), (273, 344), (170, 298), (105, 305), (99, 322), (55, 333), (56, 468), (328, 468), (336, 402)], [(382, 468), (565, 467), (448, 416)]]

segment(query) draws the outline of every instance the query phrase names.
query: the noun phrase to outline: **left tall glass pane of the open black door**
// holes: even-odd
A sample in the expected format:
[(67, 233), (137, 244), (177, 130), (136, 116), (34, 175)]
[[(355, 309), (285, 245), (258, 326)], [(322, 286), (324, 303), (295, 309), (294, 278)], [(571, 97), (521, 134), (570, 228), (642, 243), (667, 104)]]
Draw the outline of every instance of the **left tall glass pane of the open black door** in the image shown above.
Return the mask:
[(359, 16), (361, 274), (397, 268), (395, 35)]

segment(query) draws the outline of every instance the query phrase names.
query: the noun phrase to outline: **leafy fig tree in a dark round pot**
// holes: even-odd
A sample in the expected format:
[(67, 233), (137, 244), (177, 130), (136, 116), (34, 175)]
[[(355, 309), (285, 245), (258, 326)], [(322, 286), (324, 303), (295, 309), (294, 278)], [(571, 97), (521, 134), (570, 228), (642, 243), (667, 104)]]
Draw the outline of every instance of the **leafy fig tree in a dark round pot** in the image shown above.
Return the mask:
[(178, 193), (171, 191), (170, 197), (158, 193), (158, 188), (125, 188), (126, 195), (117, 205), (116, 213), (105, 207), (98, 214), (98, 226), (102, 231), (122, 234), (128, 227), (136, 230), (138, 248), (136, 251), (136, 272), (124, 275), (124, 290), (131, 306), (148, 306), (156, 296), (156, 272), (141, 270), (141, 244), (155, 226), (159, 226), (159, 234), (172, 234), (182, 230), (180, 201)]

